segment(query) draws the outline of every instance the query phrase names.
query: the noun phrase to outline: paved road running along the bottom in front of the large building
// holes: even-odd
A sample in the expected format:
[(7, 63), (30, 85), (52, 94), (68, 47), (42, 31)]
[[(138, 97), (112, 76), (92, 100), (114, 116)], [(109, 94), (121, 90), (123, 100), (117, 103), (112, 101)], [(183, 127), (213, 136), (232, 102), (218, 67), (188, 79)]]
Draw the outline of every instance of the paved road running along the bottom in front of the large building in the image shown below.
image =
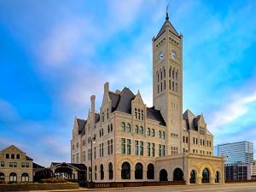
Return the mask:
[(256, 192), (256, 183), (230, 183), (224, 185), (157, 186), (130, 189), (101, 189), (108, 192)]

